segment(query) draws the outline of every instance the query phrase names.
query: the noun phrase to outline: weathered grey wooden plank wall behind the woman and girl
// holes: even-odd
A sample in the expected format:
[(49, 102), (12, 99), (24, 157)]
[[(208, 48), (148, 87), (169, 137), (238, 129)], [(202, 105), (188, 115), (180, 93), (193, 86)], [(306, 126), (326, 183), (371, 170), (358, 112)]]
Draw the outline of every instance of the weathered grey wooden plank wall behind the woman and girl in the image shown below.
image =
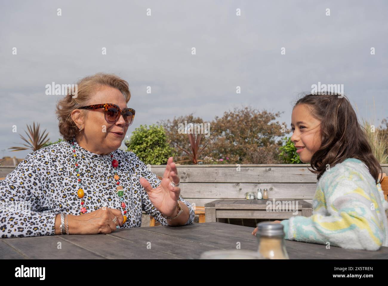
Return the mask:
[[(248, 191), (267, 188), (269, 198), (301, 199), (309, 203), (314, 197), (317, 176), (309, 164), (282, 165), (180, 165), (181, 197), (204, 206), (219, 199), (244, 199)], [(388, 164), (382, 164), (388, 174)], [(0, 166), (0, 177), (15, 167)], [(151, 172), (163, 176), (165, 165), (150, 165)]]

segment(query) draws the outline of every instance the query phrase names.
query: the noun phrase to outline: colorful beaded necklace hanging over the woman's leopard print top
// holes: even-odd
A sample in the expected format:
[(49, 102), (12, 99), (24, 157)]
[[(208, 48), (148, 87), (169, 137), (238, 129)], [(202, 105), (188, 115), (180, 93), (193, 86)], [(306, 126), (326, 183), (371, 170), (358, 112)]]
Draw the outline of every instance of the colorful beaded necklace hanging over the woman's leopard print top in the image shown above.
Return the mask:
[[(78, 195), (78, 198), (81, 199), (81, 207), (80, 207), (80, 212), (82, 214), (84, 214), (85, 212), (87, 212), (87, 209), (86, 207), (84, 206), (85, 205), (85, 200), (83, 199), (83, 196), (85, 195), (83, 189), (81, 188), (82, 186), (82, 180), (80, 178), (80, 168), (79, 168), (79, 162), (78, 162), (78, 158), (77, 158), (77, 154), (75, 154), (75, 145), (74, 145), (74, 139), (70, 141), (70, 147), (73, 149), (73, 156), (75, 158), (75, 170), (77, 172), (77, 182), (78, 182), (78, 192), (77, 192), (77, 195)], [(111, 154), (111, 158), (113, 158), (113, 154)], [(115, 185), (116, 185), (116, 195), (120, 198), (120, 201), (121, 201), (121, 207), (123, 208), (123, 211), (124, 211), (124, 221), (123, 221), (123, 224), (126, 222), (126, 205), (125, 205), (125, 202), (123, 202), (124, 198), (123, 198), (123, 195), (124, 195), (124, 189), (122, 186), (120, 186), (120, 177), (119, 175), (117, 174), (117, 167), (119, 165), (119, 161), (116, 160), (116, 159), (113, 159), (112, 160), (112, 167), (114, 168), (113, 169), (113, 173), (114, 173), (114, 180), (116, 181)], [(116, 228), (118, 228), (119, 226), (117, 226)]]

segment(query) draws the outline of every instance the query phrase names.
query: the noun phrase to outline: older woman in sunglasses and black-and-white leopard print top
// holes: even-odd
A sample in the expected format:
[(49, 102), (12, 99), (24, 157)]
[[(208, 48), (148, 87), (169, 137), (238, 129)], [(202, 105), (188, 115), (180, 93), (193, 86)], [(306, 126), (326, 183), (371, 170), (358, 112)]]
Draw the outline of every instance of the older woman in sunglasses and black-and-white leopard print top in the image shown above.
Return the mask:
[(135, 116), (128, 82), (100, 73), (77, 84), (77, 95), (57, 104), (64, 141), (28, 154), (0, 181), (1, 237), (111, 233), (139, 227), (142, 211), (162, 225), (192, 223), (173, 158), (160, 181), (136, 154), (118, 149)]

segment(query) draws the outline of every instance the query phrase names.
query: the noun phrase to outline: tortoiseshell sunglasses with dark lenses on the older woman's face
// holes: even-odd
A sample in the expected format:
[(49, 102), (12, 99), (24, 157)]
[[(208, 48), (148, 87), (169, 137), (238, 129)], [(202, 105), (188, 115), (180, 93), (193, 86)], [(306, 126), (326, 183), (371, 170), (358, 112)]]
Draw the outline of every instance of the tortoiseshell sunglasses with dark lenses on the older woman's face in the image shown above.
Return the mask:
[(105, 104), (93, 104), (88, 106), (78, 107), (78, 109), (104, 109), (105, 120), (108, 123), (116, 123), (116, 121), (120, 118), (120, 115), (123, 116), (125, 120), (125, 126), (131, 126), (133, 122), (133, 118), (135, 118), (135, 110), (132, 108), (126, 108), (121, 110), (116, 104), (105, 103)]

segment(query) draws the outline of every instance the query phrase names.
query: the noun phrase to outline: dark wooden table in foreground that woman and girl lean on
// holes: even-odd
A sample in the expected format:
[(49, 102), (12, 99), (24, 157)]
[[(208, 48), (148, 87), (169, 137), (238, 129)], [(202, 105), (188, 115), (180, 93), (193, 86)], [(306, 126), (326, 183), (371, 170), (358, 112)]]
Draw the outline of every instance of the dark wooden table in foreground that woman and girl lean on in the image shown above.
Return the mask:
[[(4, 259), (197, 259), (212, 249), (256, 251), (252, 227), (225, 223), (151, 226), (116, 230), (104, 235), (49, 235), (0, 239)], [(59, 244), (60, 243), (60, 244)], [(61, 245), (61, 249), (58, 246)], [(286, 240), (290, 259), (387, 259), (388, 247), (378, 251), (350, 250)]]

